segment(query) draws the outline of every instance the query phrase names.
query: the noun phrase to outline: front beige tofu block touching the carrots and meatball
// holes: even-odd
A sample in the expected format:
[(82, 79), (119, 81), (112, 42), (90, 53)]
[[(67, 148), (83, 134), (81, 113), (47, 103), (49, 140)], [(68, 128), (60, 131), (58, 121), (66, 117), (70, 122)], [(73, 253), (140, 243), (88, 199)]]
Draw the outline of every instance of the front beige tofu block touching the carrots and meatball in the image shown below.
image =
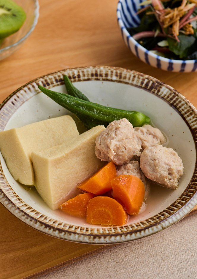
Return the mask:
[(58, 209), (78, 183), (103, 166), (95, 155), (95, 140), (104, 129), (96, 126), (69, 142), (31, 153), (36, 189), (51, 209)]

